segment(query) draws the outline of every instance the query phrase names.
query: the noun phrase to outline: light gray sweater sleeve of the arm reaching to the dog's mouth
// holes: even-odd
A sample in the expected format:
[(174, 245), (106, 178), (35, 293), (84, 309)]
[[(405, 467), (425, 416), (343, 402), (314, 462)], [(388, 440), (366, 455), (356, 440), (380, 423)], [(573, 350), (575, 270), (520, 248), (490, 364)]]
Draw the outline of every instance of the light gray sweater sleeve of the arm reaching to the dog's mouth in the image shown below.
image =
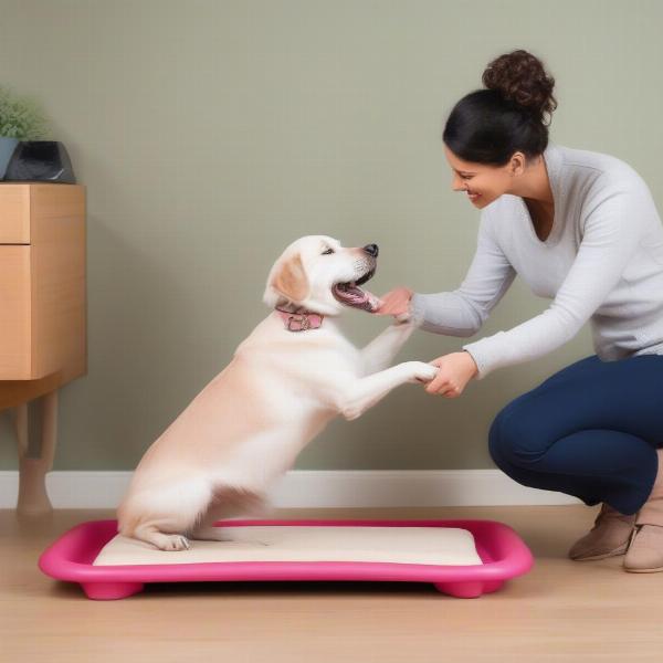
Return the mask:
[(487, 210), (483, 210), (476, 252), (461, 286), (453, 292), (414, 293), (410, 299), (410, 316), (425, 332), (472, 336), (508, 290), (515, 275), (493, 235)]

